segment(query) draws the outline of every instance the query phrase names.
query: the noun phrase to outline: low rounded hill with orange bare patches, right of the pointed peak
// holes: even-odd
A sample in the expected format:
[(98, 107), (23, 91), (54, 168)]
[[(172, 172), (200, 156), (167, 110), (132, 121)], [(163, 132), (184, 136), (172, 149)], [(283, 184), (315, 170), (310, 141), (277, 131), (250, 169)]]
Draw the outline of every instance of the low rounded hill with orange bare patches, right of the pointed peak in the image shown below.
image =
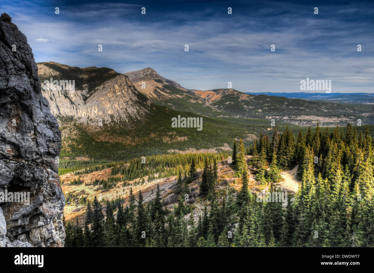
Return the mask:
[(190, 90), (212, 109), (252, 119), (275, 119), (300, 126), (344, 126), (345, 123), (374, 122), (373, 107), (324, 101), (307, 101), (268, 95), (252, 95), (233, 89)]

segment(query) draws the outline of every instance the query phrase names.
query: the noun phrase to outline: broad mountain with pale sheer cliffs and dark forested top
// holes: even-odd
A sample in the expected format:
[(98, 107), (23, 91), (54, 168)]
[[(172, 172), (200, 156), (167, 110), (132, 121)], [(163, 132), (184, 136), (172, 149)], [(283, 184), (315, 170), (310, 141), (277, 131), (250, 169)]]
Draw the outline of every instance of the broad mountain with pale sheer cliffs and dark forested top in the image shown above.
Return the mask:
[[(141, 119), (150, 102), (132, 85), (125, 75), (108, 68), (77, 68), (55, 62), (38, 63), (42, 94), (55, 116), (79, 117), (81, 122)], [(74, 89), (49, 84), (71, 81)], [(45, 85), (43, 80), (48, 82)]]

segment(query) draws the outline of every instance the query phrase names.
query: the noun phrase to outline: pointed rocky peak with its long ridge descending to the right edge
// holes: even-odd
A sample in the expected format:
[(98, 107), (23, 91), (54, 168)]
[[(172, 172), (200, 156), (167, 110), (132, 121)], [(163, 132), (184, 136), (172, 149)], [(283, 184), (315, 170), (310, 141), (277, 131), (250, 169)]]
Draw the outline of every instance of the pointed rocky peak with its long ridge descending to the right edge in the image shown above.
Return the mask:
[[(374, 123), (371, 106), (249, 95), (233, 89), (186, 90), (151, 68), (127, 72), (125, 75), (128, 75), (135, 87), (153, 103), (203, 116), (275, 119), (300, 126), (316, 126), (317, 122), (321, 126), (344, 126), (348, 122), (356, 124), (358, 119), (361, 119), (364, 125)], [(316, 98), (324, 98), (323, 95)]]

